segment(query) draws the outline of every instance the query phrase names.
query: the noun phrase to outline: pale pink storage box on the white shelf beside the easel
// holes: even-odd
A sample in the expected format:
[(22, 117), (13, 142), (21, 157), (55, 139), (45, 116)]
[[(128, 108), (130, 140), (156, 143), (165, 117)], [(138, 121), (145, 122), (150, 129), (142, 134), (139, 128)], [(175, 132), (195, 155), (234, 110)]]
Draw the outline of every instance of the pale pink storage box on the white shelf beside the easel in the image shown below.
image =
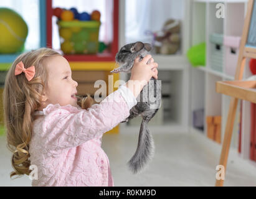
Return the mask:
[(240, 39), (240, 37), (224, 36), (225, 73), (230, 76), (235, 76)]

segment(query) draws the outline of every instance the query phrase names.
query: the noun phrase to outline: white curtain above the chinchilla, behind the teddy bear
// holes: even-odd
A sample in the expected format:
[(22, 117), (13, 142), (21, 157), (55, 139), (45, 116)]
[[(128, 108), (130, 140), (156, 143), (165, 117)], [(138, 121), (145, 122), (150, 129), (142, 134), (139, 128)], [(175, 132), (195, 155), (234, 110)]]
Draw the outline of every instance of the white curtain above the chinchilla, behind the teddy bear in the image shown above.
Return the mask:
[(157, 32), (167, 19), (183, 19), (186, 0), (125, 0), (126, 43), (150, 42), (146, 31)]

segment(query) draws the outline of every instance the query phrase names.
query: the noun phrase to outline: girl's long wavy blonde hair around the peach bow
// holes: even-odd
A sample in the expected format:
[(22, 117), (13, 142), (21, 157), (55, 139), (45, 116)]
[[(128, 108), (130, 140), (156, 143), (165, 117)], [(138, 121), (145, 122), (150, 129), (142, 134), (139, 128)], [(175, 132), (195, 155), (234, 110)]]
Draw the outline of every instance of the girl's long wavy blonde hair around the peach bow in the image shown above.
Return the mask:
[[(40, 108), (42, 92), (47, 84), (47, 71), (44, 60), (49, 57), (61, 56), (52, 49), (32, 50), (16, 58), (9, 69), (4, 84), (4, 127), (7, 134), (7, 148), (13, 153), (11, 164), (14, 175), (29, 175), (31, 141), (34, 111)], [(35, 67), (36, 73), (31, 81), (27, 81), (24, 73), (14, 75), (17, 63), (23, 62), (25, 68)], [(90, 108), (93, 100), (81, 98), (78, 103), (83, 109)]]

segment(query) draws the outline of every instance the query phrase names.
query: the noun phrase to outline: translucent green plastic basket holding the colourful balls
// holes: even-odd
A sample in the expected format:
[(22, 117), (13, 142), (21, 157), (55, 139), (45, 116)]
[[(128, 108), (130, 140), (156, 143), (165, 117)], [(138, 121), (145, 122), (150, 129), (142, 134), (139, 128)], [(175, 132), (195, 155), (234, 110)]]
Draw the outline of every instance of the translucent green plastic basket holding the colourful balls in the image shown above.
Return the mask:
[(99, 21), (58, 21), (60, 49), (65, 54), (98, 52)]

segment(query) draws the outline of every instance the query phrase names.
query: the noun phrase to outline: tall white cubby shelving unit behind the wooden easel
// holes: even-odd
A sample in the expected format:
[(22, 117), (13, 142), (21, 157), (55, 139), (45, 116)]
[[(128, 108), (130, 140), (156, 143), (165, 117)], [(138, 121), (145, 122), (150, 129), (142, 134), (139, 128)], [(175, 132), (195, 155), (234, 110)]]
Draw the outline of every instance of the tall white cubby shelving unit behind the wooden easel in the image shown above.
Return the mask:
[[(222, 2), (225, 7), (225, 17), (216, 17), (216, 4)], [(211, 67), (211, 43), (209, 41), (212, 33), (240, 37), (244, 27), (244, 17), (247, 9), (247, 1), (192, 1), (192, 35), (191, 46), (206, 42), (206, 66), (191, 68), (191, 107), (190, 107), (190, 129), (199, 131), (192, 126), (192, 111), (204, 109), (205, 116), (222, 116), (222, 140), (224, 138), (227, 113), (229, 111), (230, 97), (216, 93), (216, 81), (231, 81), (234, 76), (227, 73), (225, 63), (225, 50), (223, 53), (223, 67), (221, 71)], [(234, 25), (235, 24), (235, 25)], [(223, 46), (225, 49), (225, 46)], [(236, 67), (236, 65), (234, 65)], [(245, 68), (244, 79), (251, 76), (248, 64)], [(199, 80), (200, 79), (200, 80)], [(197, 89), (198, 88), (198, 89)], [(240, 104), (237, 109), (235, 126), (232, 134), (231, 147), (238, 150), (239, 147), (239, 123)], [(242, 142), (241, 157), (249, 159), (250, 149), (250, 103), (242, 101)], [(207, 124), (204, 122), (204, 131), (199, 131), (207, 136)]]

